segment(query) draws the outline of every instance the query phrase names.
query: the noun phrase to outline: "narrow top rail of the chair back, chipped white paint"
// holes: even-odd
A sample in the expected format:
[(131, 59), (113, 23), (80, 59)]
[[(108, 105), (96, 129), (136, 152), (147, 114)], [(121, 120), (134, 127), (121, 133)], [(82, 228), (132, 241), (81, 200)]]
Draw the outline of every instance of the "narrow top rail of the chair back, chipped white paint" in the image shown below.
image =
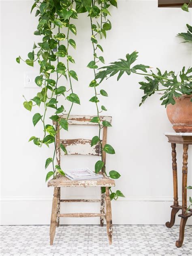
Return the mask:
[[(68, 115), (59, 115), (60, 118), (67, 118)], [(68, 118), (68, 124), (83, 124), (83, 125), (98, 125), (98, 123), (92, 123), (90, 122), (93, 117), (96, 117), (95, 115), (70, 115)], [(111, 116), (99, 116), (100, 122), (102, 124), (102, 121), (108, 121), (111, 124)], [(53, 124), (56, 124), (56, 122), (53, 121)]]

